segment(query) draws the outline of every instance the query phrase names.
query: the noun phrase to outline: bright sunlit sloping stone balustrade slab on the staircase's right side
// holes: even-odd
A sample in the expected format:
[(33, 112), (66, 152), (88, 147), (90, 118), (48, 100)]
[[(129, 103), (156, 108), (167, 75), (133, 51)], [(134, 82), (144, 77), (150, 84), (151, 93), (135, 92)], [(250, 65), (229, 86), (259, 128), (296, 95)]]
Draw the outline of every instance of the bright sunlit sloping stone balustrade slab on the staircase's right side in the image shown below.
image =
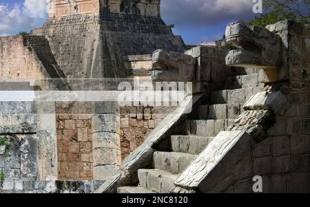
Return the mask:
[(244, 131), (220, 132), (196, 160), (178, 177), (175, 184), (183, 188), (214, 190), (254, 144)]

